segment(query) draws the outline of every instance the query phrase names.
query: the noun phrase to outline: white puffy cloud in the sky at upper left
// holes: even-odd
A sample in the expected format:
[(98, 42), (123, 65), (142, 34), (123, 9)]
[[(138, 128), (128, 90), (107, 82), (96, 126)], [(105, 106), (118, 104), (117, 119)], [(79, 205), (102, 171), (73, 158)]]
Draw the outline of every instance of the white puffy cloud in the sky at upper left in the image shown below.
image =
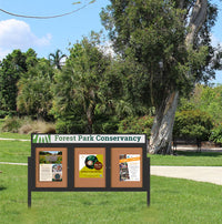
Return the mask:
[(38, 38), (28, 23), (10, 19), (0, 21), (0, 59), (14, 49), (27, 50), (28, 48), (49, 45), (51, 34)]

